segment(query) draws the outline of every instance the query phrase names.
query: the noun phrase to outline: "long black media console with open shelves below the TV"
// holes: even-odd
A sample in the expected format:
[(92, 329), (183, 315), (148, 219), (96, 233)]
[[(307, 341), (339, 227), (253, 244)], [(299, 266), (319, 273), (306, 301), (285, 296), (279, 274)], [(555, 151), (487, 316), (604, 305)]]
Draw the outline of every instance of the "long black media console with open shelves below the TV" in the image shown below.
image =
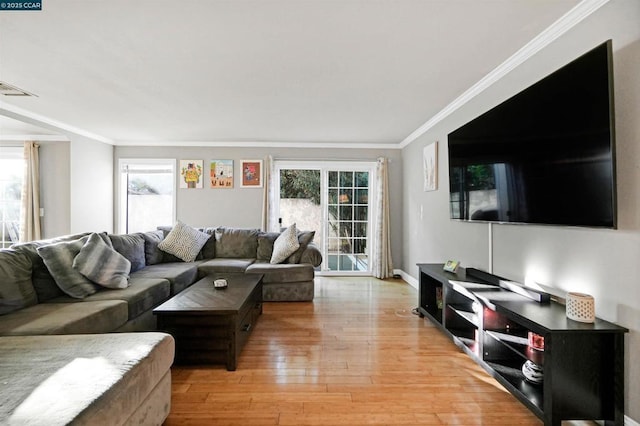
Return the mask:
[[(442, 267), (418, 264), (420, 316), (451, 337), (545, 425), (560, 426), (562, 420), (623, 425), (626, 328), (601, 319), (573, 321), (564, 305), (549, 301), (548, 295), (527, 294), (472, 268), (450, 273)], [(529, 346), (530, 332), (544, 338), (543, 351)], [(525, 379), (527, 360), (542, 366), (541, 384)]]

